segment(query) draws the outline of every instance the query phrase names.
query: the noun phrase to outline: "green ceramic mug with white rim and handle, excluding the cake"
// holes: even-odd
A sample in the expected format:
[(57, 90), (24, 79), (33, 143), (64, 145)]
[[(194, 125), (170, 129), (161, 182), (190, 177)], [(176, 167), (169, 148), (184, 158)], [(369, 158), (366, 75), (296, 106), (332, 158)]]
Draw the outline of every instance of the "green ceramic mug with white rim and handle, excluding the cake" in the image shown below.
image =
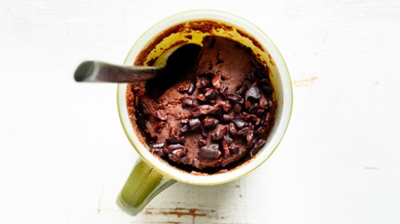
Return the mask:
[[(204, 32), (190, 28), (192, 22), (197, 23), (196, 21), (204, 20), (215, 22), (215, 27), (212, 27), (211, 23), (211, 30)], [(186, 26), (187, 29), (170, 29), (178, 24), (183, 24), (183, 27)], [(224, 29), (224, 26), (228, 29)], [(167, 30), (170, 32), (168, 35), (164, 35)], [(269, 158), (285, 134), (293, 103), (292, 85), (287, 66), (271, 39), (243, 18), (211, 10), (193, 10), (172, 15), (139, 37), (129, 51), (124, 64), (147, 65), (174, 44), (182, 41), (200, 44), (203, 36), (210, 33), (229, 37), (245, 44), (261, 58), (263, 63), (269, 66), (270, 78), (275, 88), (274, 98), (278, 103), (275, 110), (275, 123), (266, 144), (250, 161), (228, 170), (228, 172), (195, 175), (178, 169), (149, 152), (149, 146), (143, 141), (136, 125), (132, 125), (129, 119), (126, 100), (127, 84), (118, 84), (119, 118), (129, 141), (140, 155), (117, 197), (118, 206), (130, 215), (137, 215), (154, 196), (176, 181), (193, 185), (216, 185), (234, 181), (246, 175)], [(145, 55), (143, 55), (144, 53)]]

